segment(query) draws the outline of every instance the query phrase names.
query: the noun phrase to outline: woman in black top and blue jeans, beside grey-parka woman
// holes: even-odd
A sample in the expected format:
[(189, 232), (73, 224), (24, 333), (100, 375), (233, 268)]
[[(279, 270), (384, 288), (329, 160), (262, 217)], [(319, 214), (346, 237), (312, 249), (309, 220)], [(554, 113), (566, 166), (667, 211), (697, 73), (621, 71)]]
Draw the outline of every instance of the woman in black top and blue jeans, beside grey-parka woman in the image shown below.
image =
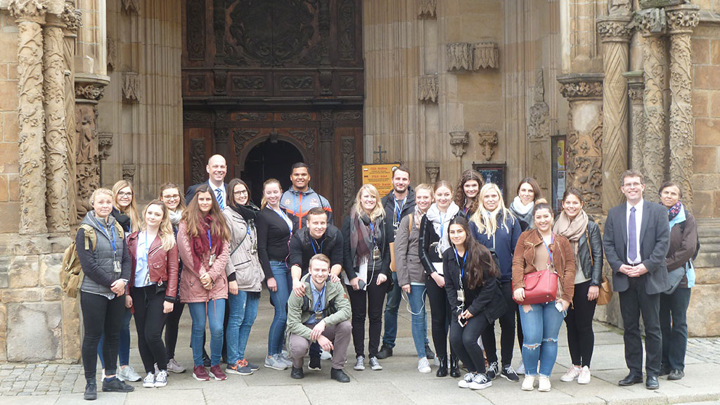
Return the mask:
[(268, 354), (264, 366), (274, 370), (285, 370), (292, 365), (292, 360), (282, 352), (287, 324), (287, 298), (292, 291), (292, 277), (287, 266), (292, 221), (285, 210), (280, 208), (280, 197), (280, 182), (267, 179), (263, 184), (262, 209), (257, 215), (258, 259), (275, 308), (268, 332)]

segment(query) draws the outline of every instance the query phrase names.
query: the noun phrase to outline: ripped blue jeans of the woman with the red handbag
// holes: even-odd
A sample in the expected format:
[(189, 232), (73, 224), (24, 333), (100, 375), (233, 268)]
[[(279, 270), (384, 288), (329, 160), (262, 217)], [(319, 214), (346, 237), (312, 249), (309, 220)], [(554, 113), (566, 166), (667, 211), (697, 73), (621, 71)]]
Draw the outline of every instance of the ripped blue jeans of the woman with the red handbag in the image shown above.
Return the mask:
[(526, 306), (520, 306), (525, 375), (540, 374), (549, 377), (557, 360), (557, 335), (560, 333), (565, 312), (557, 311), (555, 301), (533, 304), (527, 312), (525, 308)]

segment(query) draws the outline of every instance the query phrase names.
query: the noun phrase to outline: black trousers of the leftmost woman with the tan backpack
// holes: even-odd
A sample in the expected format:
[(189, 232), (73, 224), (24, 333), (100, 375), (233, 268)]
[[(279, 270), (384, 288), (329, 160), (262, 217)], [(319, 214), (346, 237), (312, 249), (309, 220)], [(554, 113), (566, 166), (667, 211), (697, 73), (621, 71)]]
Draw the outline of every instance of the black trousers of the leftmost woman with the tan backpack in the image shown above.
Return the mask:
[(120, 340), (122, 317), (125, 316), (125, 295), (109, 300), (102, 295), (80, 292), (80, 308), (83, 311), (85, 336), (81, 353), (85, 378), (95, 379), (97, 372), (97, 345), (105, 334), (102, 357), (105, 374), (114, 375), (117, 368), (117, 343)]

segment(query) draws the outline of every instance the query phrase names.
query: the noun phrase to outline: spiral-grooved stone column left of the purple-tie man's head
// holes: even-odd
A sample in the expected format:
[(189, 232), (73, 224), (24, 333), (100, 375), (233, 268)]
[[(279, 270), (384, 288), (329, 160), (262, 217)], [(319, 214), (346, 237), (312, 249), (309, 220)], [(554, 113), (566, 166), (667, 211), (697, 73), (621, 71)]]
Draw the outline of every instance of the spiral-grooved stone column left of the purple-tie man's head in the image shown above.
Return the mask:
[(616, 184), (628, 167), (628, 43), (631, 30), (629, 12), (598, 18), (603, 42), (603, 181), (611, 184), (603, 190), (603, 214), (618, 205), (623, 195)]

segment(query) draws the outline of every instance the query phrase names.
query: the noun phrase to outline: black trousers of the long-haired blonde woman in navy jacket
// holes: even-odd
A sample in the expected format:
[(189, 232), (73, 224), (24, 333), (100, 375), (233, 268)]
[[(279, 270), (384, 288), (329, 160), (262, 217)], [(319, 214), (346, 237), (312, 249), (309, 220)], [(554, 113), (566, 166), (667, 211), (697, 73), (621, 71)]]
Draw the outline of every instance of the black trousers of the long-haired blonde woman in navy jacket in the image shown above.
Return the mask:
[[(513, 301), (513, 282), (500, 282), (500, 290), (503, 292), (508, 310), (500, 316), (500, 356), (503, 367), (513, 362), (513, 344), (515, 343), (515, 315), (518, 312), (518, 304)], [(518, 316), (519, 319), (519, 316)], [(518, 342), (520, 339), (518, 339)], [(485, 347), (485, 356), (488, 364), (498, 361), (498, 345), (495, 343), (495, 322), (492, 322), (482, 332), (482, 346)]]

